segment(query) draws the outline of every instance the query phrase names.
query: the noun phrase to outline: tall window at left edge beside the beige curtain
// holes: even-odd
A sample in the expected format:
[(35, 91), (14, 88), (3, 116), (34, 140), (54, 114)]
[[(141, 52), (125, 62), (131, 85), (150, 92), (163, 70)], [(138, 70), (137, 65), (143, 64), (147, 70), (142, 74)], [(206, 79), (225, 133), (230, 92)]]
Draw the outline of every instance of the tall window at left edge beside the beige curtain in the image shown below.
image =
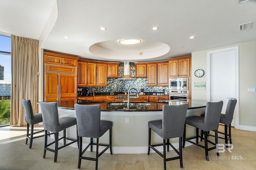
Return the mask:
[(11, 37), (0, 35), (0, 125), (10, 123)]

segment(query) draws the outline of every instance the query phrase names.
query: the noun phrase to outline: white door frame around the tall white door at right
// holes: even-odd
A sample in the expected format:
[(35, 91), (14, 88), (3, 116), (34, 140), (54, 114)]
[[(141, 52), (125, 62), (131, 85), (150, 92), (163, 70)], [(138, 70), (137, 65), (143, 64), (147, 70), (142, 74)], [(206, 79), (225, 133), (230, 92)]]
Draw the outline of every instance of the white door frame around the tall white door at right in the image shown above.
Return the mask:
[(206, 88), (207, 88), (207, 100), (210, 101), (210, 85), (211, 85), (211, 73), (210, 73), (210, 57), (212, 57), (213, 54), (221, 53), (225, 51), (234, 51), (234, 58), (235, 58), (235, 96), (234, 98), (237, 99), (237, 104), (234, 111), (234, 127), (239, 127), (239, 47), (229, 47), (224, 49), (218, 49), (214, 51), (208, 51), (207, 52), (207, 82)]

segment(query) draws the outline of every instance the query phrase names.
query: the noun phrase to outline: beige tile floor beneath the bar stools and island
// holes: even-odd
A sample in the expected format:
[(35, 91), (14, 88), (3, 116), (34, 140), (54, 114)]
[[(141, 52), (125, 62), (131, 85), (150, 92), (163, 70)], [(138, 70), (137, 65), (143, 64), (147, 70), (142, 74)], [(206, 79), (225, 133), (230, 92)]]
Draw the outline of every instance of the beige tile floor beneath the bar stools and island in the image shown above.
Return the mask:
[[(38, 127), (37, 129), (40, 129)], [(219, 130), (223, 131), (220, 125)], [(58, 151), (57, 162), (54, 153), (46, 152), (43, 158), (44, 138), (34, 139), (32, 149), (25, 145), (26, 127), (0, 128), (0, 170), (76, 170), (78, 149), (65, 147)], [(219, 143), (224, 140), (219, 139)], [(252, 170), (256, 169), (256, 132), (232, 128), (232, 153), (226, 151), (216, 156), (209, 152), (210, 160), (205, 160), (204, 149), (192, 145), (183, 149), (184, 170)], [(95, 152), (87, 152), (93, 155)], [(168, 152), (168, 156), (174, 151)], [(167, 169), (180, 170), (179, 160), (167, 162)], [(95, 162), (82, 160), (81, 170), (94, 170)], [(163, 159), (156, 153), (147, 154), (102, 154), (99, 170), (162, 170)]]

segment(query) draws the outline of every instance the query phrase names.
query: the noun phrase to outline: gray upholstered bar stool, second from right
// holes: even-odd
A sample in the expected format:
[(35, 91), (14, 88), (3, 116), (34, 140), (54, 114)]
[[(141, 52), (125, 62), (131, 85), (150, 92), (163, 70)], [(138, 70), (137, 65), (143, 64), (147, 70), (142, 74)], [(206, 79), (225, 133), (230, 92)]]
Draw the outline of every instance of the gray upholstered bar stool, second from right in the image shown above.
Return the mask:
[[(193, 143), (194, 145), (202, 147), (205, 150), (206, 160), (209, 160), (208, 151), (216, 149), (216, 145), (218, 144), (218, 127), (219, 127), (222, 106), (223, 106), (223, 101), (207, 102), (204, 117), (202, 116), (186, 117), (185, 128), (186, 128), (186, 124), (196, 127), (196, 136), (186, 139), (186, 130), (184, 130), (183, 148), (185, 146), (185, 141), (188, 141), (190, 143)], [(205, 136), (204, 146), (198, 144), (198, 137), (199, 137), (198, 129), (201, 129), (204, 131), (204, 136)], [(207, 133), (212, 130), (215, 130), (215, 143), (208, 140)], [(196, 143), (193, 141), (190, 141), (191, 139), (195, 139), (195, 138), (196, 138)], [(214, 147), (208, 148), (208, 142), (214, 145)], [(219, 156), (218, 150), (217, 150), (217, 155)]]

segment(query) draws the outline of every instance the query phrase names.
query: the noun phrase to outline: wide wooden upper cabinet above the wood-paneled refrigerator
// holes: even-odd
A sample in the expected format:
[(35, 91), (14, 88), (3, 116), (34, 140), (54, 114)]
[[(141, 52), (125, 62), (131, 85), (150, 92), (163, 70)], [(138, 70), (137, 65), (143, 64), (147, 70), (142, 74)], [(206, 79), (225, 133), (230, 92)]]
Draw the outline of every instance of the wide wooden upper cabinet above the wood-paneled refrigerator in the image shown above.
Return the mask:
[(61, 55), (44, 51), (44, 63), (63, 66), (77, 66), (78, 57)]

